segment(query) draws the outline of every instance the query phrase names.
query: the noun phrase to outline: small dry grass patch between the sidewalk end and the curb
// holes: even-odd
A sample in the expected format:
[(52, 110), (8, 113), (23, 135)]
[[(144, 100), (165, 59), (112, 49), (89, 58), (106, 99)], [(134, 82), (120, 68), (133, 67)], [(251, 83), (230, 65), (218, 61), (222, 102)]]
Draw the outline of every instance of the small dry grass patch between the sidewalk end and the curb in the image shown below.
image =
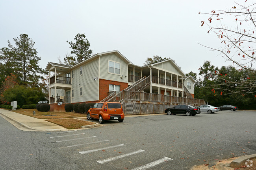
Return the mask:
[(58, 124), (59, 126), (63, 126), (67, 129), (79, 129), (81, 126), (95, 124), (95, 122), (82, 121), (78, 119), (48, 119), (48, 122), (52, 122)]

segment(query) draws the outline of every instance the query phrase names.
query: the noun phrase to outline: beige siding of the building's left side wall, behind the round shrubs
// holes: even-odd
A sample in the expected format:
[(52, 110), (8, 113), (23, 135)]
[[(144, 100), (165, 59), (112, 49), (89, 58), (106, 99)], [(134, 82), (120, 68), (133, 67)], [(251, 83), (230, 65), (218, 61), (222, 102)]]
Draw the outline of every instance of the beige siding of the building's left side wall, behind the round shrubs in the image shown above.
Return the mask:
[[(82, 75), (80, 75), (80, 66), (74, 68), (71, 88), (74, 89), (72, 103), (98, 100), (99, 80), (93, 80), (93, 78), (98, 77), (98, 58), (84, 64), (82, 67)], [(83, 91), (82, 96), (80, 96), (80, 87), (82, 87)], [(72, 96), (72, 91), (70, 95)]]

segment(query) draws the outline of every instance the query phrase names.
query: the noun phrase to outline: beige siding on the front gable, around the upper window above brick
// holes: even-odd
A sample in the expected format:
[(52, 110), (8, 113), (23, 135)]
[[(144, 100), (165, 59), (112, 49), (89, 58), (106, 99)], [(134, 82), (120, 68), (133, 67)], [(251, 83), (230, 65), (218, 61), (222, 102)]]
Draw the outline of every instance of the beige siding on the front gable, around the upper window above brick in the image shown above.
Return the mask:
[[(108, 61), (120, 63), (120, 74), (108, 72)], [(123, 78), (121, 79), (121, 76)], [(128, 64), (115, 54), (100, 56), (100, 79), (128, 82)]]

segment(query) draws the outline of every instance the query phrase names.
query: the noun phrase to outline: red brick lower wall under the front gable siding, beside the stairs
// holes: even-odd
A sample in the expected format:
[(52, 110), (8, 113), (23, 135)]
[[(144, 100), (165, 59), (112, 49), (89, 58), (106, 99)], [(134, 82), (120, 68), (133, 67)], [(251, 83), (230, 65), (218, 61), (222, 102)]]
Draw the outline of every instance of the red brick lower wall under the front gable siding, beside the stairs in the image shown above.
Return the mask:
[(118, 82), (118, 81), (111, 81), (111, 80), (104, 80), (99, 79), (99, 101), (102, 101), (105, 97), (108, 96), (109, 91), (109, 84), (114, 84), (120, 86), (120, 91), (126, 89), (128, 87), (128, 83)]

